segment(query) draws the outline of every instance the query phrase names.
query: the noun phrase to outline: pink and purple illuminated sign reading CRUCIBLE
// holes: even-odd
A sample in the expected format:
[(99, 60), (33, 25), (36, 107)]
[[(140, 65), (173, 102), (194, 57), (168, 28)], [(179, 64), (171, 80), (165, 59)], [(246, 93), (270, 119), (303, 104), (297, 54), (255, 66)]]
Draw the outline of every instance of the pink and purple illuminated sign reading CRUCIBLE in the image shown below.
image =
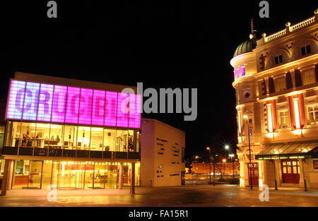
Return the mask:
[(6, 119), (140, 128), (141, 96), (11, 80)]

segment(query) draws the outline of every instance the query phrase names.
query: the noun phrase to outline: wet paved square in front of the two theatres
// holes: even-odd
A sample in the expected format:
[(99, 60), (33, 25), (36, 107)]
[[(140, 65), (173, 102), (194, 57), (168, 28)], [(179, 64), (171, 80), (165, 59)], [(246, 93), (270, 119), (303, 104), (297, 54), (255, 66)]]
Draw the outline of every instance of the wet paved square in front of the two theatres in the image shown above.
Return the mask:
[[(305, 192), (298, 188), (269, 189), (269, 201), (260, 201), (258, 188), (233, 185), (171, 187), (136, 187), (136, 194), (124, 189), (58, 190), (57, 201), (48, 201), (49, 191), (10, 190), (0, 196), (0, 206), (26, 207), (307, 207), (318, 206), (318, 189)], [(264, 196), (264, 195), (262, 195)]]

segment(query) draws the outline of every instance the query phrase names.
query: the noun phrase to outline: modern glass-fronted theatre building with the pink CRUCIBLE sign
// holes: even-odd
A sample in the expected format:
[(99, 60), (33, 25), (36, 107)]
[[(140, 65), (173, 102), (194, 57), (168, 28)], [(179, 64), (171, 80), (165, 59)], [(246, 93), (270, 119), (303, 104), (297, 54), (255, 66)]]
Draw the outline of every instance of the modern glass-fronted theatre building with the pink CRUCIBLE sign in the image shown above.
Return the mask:
[(124, 85), (18, 72), (9, 84), (2, 194), (50, 184), (57, 189), (140, 185), (140, 95), (122, 93)]

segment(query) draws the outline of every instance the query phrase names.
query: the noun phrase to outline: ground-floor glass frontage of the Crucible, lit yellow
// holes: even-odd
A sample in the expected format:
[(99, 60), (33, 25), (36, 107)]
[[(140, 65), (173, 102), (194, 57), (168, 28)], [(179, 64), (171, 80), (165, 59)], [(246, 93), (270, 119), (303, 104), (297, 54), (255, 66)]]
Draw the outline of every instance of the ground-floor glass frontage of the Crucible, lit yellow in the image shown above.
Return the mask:
[[(119, 162), (16, 160), (13, 189), (116, 189)], [(123, 186), (130, 186), (131, 163), (123, 165)], [(140, 163), (136, 163), (135, 185), (140, 185)]]

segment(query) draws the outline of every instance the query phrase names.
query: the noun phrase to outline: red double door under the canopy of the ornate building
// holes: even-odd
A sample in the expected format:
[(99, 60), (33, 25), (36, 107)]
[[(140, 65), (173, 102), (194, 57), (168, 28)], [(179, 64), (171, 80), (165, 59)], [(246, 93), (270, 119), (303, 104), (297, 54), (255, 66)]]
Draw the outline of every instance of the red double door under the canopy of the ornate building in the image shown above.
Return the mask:
[(298, 160), (282, 160), (281, 169), (284, 184), (299, 184), (300, 169)]

